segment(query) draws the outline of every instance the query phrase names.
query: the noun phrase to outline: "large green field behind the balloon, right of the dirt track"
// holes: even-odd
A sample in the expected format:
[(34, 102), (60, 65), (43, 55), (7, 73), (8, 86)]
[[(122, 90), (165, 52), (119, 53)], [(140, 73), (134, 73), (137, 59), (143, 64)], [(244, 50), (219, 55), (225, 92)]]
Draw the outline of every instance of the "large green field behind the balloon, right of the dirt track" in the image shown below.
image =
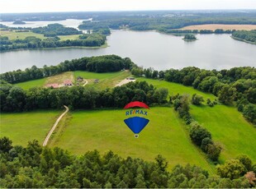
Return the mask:
[(99, 150), (102, 154), (112, 150), (123, 157), (131, 156), (154, 160), (162, 154), (169, 168), (176, 164), (197, 164), (213, 172), (204, 154), (192, 145), (186, 126), (173, 108), (150, 108), (150, 122), (139, 138), (123, 121), (126, 110), (74, 111), (69, 124), (50, 146), (61, 146), (73, 154)]

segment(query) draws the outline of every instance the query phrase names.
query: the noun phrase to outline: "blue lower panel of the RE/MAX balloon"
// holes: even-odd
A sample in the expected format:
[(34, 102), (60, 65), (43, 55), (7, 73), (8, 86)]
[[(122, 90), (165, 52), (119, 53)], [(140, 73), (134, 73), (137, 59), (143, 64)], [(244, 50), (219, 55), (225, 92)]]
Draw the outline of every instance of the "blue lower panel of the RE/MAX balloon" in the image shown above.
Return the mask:
[(135, 134), (139, 134), (140, 131), (144, 129), (144, 127), (149, 123), (149, 119), (140, 118), (140, 117), (133, 117), (127, 118), (124, 120), (126, 125), (133, 131)]

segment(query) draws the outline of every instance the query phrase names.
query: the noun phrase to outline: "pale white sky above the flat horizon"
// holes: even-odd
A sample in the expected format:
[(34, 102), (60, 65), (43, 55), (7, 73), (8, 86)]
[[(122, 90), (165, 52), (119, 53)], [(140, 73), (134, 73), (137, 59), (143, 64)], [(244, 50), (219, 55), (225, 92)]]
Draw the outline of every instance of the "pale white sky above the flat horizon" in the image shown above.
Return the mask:
[(0, 0), (0, 13), (256, 9), (256, 0)]

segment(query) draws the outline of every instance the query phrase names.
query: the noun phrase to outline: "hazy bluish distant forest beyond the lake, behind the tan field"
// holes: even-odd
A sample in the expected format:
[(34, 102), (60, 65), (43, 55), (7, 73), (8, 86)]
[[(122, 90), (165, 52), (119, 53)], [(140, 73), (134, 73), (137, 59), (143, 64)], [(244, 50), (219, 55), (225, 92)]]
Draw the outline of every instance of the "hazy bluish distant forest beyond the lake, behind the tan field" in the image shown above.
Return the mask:
[[(141, 15), (108, 15), (93, 17), (92, 21), (83, 21), (79, 29), (129, 28), (130, 30), (168, 30), (179, 29), (187, 25), (203, 24), (256, 24), (256, 12), (248, 15), (239, 12), (146, 12)], [(212, 32), (212, 31), (211, 31)]]

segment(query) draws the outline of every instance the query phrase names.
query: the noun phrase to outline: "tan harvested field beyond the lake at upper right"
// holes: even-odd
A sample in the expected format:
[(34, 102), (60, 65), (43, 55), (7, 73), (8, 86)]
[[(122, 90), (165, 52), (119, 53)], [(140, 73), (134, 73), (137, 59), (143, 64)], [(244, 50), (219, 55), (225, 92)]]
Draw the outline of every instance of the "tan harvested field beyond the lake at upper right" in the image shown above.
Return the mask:
[(180, 30), (256, 30), (256, 25), (189, 25)]

